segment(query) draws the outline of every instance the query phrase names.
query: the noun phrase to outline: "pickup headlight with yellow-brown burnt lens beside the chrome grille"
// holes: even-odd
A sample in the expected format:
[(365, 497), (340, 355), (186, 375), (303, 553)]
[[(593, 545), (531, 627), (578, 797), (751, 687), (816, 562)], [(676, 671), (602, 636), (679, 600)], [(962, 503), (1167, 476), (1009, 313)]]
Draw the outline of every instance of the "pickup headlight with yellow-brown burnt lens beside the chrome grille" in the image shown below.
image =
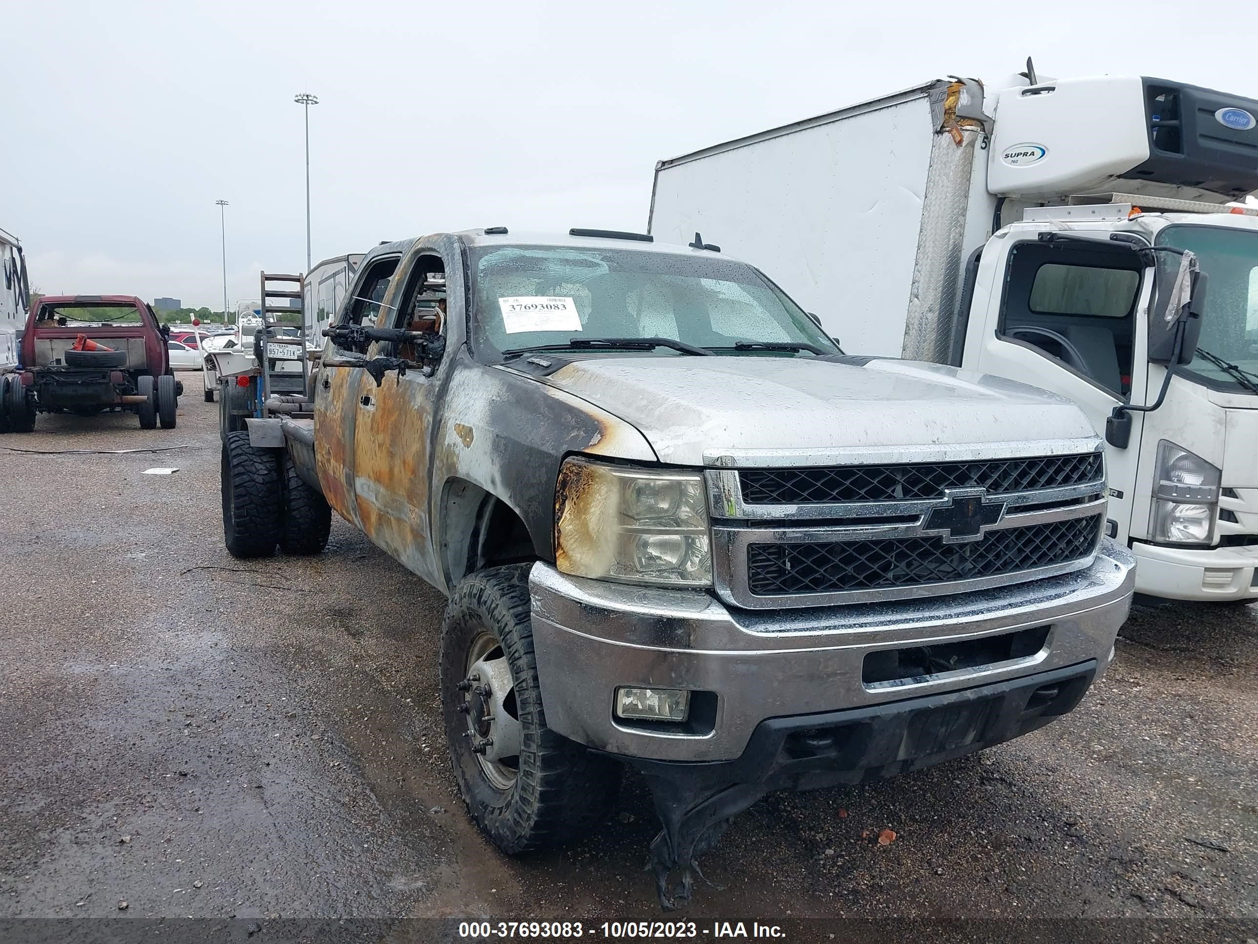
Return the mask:
[(711, 587), (703, 477), (567, 459), (555, 496), (555, 564), (575, 576)]

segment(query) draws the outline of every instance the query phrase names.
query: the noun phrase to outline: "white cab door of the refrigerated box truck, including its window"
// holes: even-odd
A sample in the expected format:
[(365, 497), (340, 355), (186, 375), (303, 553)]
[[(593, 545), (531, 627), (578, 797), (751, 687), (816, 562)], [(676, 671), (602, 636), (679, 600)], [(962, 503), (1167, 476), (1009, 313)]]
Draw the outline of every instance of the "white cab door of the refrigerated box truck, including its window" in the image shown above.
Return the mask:
[[(1144, 310), (1151, 279), (1126, 245), (1099, 240), (994, 240), (975, 281), (964, 364), (1077, 403), (1105, 435), (1123, 400), (1145, 403)], [(1110, 448), (1110, 519), (1126, 540), (1142, 414), (1127, 449)], [(1110, 530), (1113, 530), (1111, 526)]]

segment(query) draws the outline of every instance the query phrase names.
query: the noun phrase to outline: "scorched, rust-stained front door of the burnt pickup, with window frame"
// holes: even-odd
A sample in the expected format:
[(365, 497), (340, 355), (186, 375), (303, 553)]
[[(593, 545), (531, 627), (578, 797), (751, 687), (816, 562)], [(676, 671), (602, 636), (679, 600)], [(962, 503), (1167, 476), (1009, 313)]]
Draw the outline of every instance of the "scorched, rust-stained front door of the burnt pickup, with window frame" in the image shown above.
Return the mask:
[[(454, 262), (450, 263), (457, 264)], [(405, 272), (405, 281), (403, 279)], [(445, 332), (445, 262), (435, 250), (415, 250), (385, 298), (381, 327)], [(462, 310), (460, 300), (453, 300)], [(453, 312), (452, 312), (453, 313)], [(370, 356), (415, 359), (409, 345), (375, 344)], [(447, 356), (444, 366), (452, 360)], [(359, 524), (379, 546), (429, 583), (439, 583), (429, 529), (429, 481), (435, 390), (442, 380), (408, 370), (380, 385), (359, 371), (353, 429), (353, 485)]]

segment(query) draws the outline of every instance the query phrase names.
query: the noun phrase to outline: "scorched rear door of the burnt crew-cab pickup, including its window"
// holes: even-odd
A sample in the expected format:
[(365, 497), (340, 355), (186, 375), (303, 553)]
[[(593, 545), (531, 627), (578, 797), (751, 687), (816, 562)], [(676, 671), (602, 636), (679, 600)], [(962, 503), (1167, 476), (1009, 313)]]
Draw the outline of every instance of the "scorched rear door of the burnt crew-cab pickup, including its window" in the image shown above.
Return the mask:
[[(377, 257), (362, 267), (341, 307), (338, 325), (375, 323), (400, 258), (400, 254)], [(330, 340), (314, 381), (314, 458), (320, 486), (327, 503), (359, 526), (362, 522), (353, 501), (353, 424), (359, 417), (364, 360), (361, 352), (342, 350)]]

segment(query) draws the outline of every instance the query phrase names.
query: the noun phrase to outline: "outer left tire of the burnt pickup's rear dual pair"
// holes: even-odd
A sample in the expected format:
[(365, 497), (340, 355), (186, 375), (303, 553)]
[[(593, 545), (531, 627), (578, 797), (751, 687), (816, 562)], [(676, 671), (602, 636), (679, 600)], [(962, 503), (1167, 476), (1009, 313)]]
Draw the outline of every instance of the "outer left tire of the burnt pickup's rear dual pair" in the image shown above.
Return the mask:
[(279, 542), (279, 463), (273, 449), (249, 444), (249, 433), (223, 438), (223, 542), (233, 558), (265, 558)]

